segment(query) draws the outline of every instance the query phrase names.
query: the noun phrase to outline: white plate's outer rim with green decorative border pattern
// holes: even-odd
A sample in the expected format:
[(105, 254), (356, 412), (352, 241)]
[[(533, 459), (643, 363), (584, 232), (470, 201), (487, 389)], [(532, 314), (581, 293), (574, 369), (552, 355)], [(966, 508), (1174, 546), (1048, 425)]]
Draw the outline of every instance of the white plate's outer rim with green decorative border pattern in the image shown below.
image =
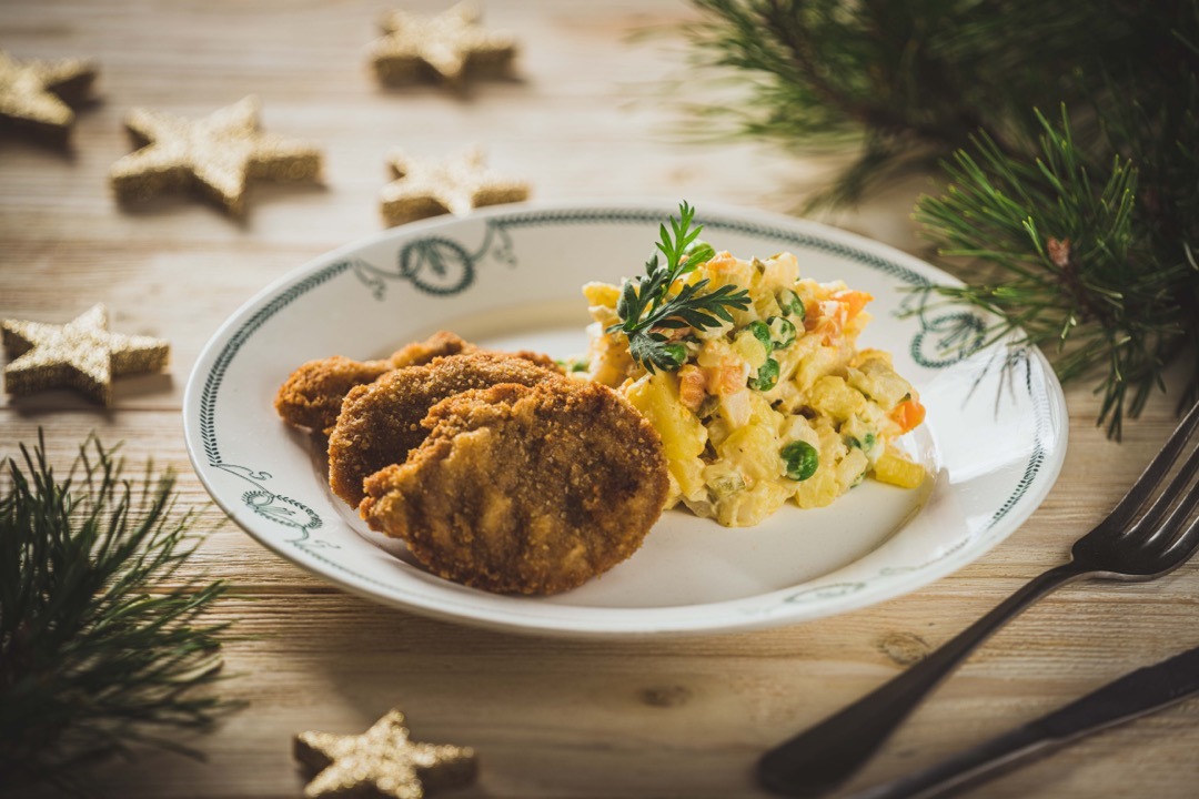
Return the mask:
[[(1066, 410), (1061, 388), (1044, 357), (1035, 349), (1004, 345), (990, 355), (1011, 383), (1023, 391), (1034, 422), (1030, 428), (1023, 473), (1012, 483), (1002, 502), (981, 526), (960, 537), (952, 546), (929, 557), (903, 564), (882, 565), (852, 580), (818, 577), (790, 589), (771, 591), (753, 598), (701, 603), (687, 607), (578, 607), (541, 604), (536, 599), (495, 598), (493, 609), (481, 610), (462, 589), (433, 599), (417, 586), (416, 595), (392, 580), (355, 569), (337, 552), (321, 532), (343, 522), (329, 519), (303, 498), (271, 488), (271, 468), (224, 460), (218, 410), (230, 367), (261, 328), (287, 311), (296, 301), (333, 280), (354, 280), (370, 302), (385, 302), (392, 287), (404, 286), (430, 301), (448, 301), (466, 295), (480, 270), (517, 268), (522, 253), (513, 234), (535, 228), (561, 225), (656, 225), (671, 212), (669, 204), (588, 206), (501, 206), (462, 218), (439, 218), (388, 230), (380, 236), (350, 244), (303, 266), (251, 299), (213, 335), (191, 375), (185, 398), (185, 431), (193, 465), (213, 498), (260, 543), (323, 574), (345, 588), (375, 600), (397, 604), (433, 616), (465, 621), (514, 631), (561, 635), (645, 635), (685, 634), (746, 629), (793, 621), (805, 621), (843, 612), (891, 598), (960, 568), (1002, 540), (1026, 519), (1048, 494), (1061, 467), (1066, 447)], [(906, 286), (928, 286), (933, 282), (956, 282), (917, 259), (886, 246), (844, 231), (788, 217), (737, 208), (700, 207), (705, 237), (742, 235), (772, 241), (778, 249), (791, 249), (801, 258), (823, 253), (857, 264)], [(477, 235), (482, 225), (481, 236)], [(477, 243), (462, 238), (472, 232)], [(394, 246), (394, 254), (380, 265), (379, 258), (363, 250)], [(629, 271), (637, 265), (629, 265)], [(915, 292), (905, 301), (914, 331), (908, 356), (928, 370), (950, 370), (965, 359), (977, 359), (983, 320), (970, 310), (923, 307)], [(974, 338), (974, 346), (959, 346), (952, 353), (938, 351), (932, 339)], [(290, 367), (299, 365), (299, 362)], [(984, 367), (984, 371), (990, 365)], [(282, 426), (282, 423), (278, 424)], [(230, 480), (229, 478), (234, 478)], [(233, 489), (233, 486), (237, 486)], [(240, 489), (240, 490), (237, 490)], [(275, 528), (272, 534), (271, 528)], [(634, 556), (635, 559), (637, 556)], [(472, 592), (481, 593), (481, 592)], [(490, 597), (490, 595), (487, 595)], [(512, 605), (517, 603), (517, 605)], [(486, 604), (486, 603), (484, 603)], [(710, 611), (705, 613), (704, 610)], [(594, 613), (591, 611), (595, 611)], [(591, 617), (589, 617), (591, 616)], [(707, 616), (707, 618), (705, 618)], [(594, 617), (594, 618), (592, 618)]]

